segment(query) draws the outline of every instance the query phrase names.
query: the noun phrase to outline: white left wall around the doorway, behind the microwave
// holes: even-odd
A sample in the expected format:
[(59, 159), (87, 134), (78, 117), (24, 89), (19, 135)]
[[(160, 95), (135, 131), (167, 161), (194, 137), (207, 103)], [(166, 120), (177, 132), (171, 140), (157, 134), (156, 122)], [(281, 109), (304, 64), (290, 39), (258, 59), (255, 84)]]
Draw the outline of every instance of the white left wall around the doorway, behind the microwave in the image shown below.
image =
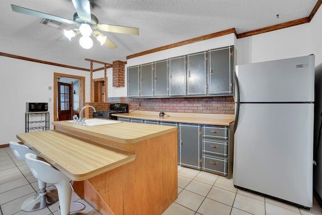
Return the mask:
[(26, 102), (48, 102), (50, 122), (53, 121), (54, 73), (86, 77), (85, 101), (90, 101), (90, 73), (87, 71), (3, 56), (0, 56), (0, 65), (0, 145), (18, 141), (16, 134), (25, 132)]

